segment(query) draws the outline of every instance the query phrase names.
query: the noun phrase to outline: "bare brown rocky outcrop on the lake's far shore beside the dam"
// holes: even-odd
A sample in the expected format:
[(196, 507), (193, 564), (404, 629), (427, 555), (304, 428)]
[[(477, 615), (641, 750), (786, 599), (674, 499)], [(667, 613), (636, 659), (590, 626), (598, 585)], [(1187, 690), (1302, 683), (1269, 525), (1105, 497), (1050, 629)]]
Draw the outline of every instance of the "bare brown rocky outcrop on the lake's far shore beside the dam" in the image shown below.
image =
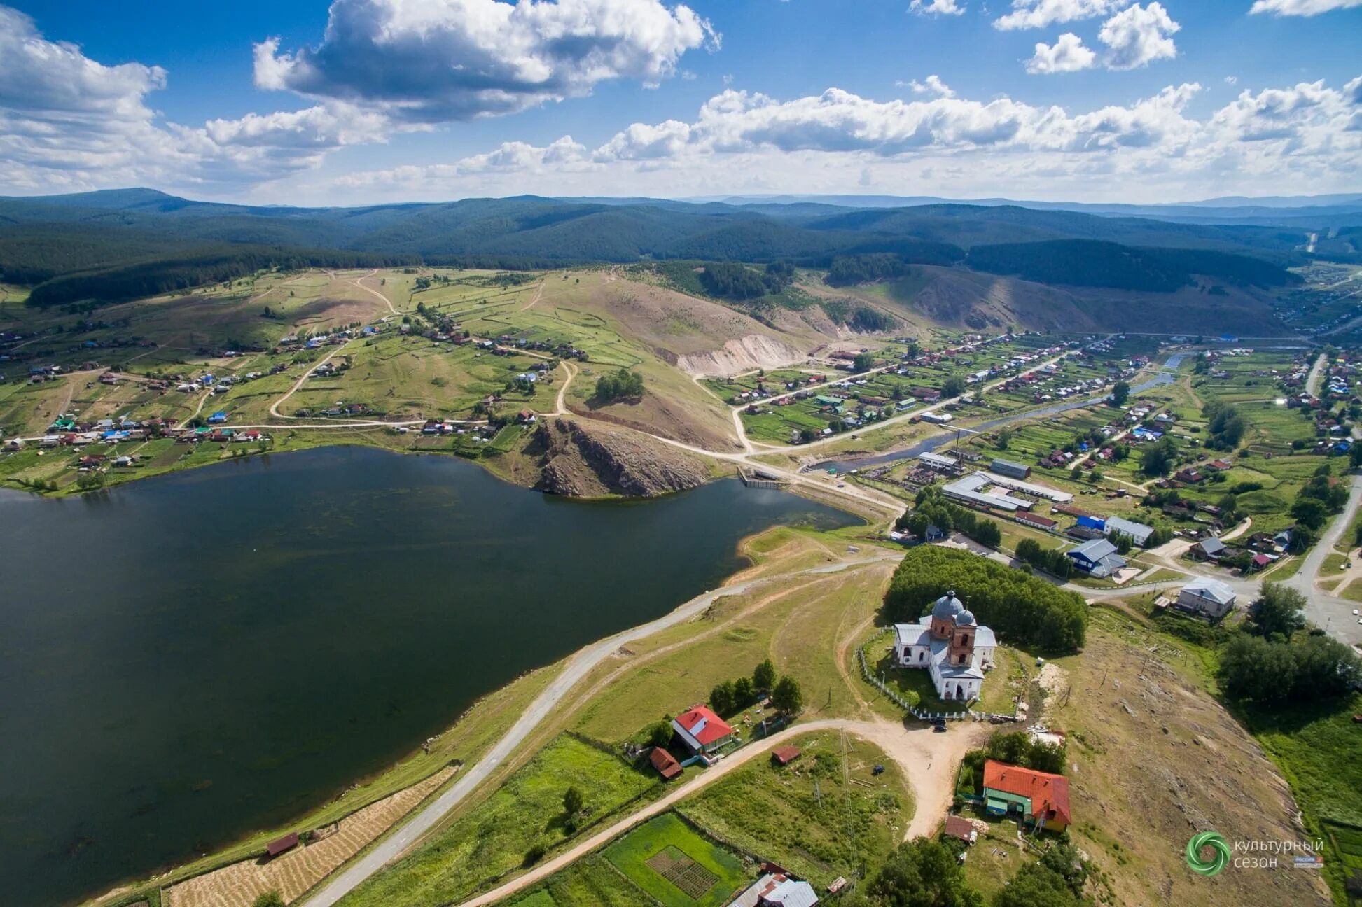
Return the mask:
[(588, 422), (550, 418), (535, 444), (543, 454), (538, 489), (567, 497), (652, 497), (703, 485), (710, 473), (685, 451), (646, 434)]

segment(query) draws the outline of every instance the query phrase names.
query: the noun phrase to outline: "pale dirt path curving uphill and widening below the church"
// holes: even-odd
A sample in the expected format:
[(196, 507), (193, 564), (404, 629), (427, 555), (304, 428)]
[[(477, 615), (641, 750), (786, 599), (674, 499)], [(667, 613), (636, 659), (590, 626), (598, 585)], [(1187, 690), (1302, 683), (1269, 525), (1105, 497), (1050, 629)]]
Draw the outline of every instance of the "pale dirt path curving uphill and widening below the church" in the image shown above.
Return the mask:
[(908, 824), (904, 840), (930, 835), (945, 818), (951, 808), (951, 797), (955, 791), (955, 767), (964, 753), (977, 746), (987, 734), (985, 725), (962, 725), (957, 731), (934, 734), (928, 729), (906, 730), (902, 725), (891, 720), (847, 720), (827, 719), (795, 725), (772, 734), (763, 741), (748, 744), (737, 753), (723, 759), (718, 765), (704, 769), (689, 783), (684, 783), (662, 799), (648, 803), (639, 812), (621, 818), (607, 828), (597, 832), (591, 838), (575, 844), (569, 850), (558, 854), (553, 859), (545, 861), (518, 878), (494, 888), (484, 895), (462, 902), (462, 907), (482, 907), (493, 904), (518, 891), (527, 888), (553, 873), (564, 869), (573, 861), (590, 854), (592, 850), (606, 844), (622, 832), (635, 825), (652, 818), (654, 816), (671, 809), (681, 799), (696, 794), (710, 784), (725, 778), (729, 772), (742, 768), (753, 759), (765, 756), (772, 748), (780, 744), (823, 730), (840, 730), (855, 737), (870, 741), (880, 746), (895, 763), (903, 768), (908, 783), (913, 787), (915, 808), (913, 821)]

